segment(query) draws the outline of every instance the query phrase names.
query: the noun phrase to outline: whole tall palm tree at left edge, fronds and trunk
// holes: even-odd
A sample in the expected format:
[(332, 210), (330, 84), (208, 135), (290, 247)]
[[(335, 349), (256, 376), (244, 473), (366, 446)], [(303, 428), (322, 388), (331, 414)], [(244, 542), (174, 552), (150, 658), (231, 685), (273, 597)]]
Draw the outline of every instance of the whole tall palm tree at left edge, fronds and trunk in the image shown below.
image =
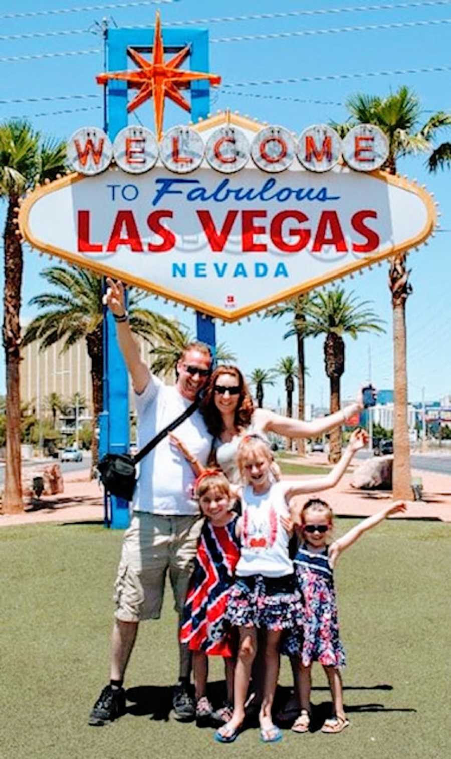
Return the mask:
[(23, 254), (14, 222), (17, 204), (38, 181), (55, 179), (65, 170), (65, 143), (43, 140), (27, 121), (0, 125), (0, 198), (8, 203), (5, 222), (5, 302), (3, 347), (6, 364), (6, 466), (3, 512), (24, 509), (21, 484), (21, 289)]

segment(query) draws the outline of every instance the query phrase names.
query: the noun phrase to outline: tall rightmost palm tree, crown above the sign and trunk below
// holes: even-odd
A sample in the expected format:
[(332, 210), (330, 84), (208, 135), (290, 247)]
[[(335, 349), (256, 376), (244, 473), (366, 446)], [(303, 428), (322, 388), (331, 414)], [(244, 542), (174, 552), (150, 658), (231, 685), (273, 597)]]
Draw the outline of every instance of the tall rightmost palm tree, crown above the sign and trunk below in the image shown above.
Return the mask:
[[(389, 142), (389, 156), (383, 168), (396, 174), (396, 162), (409, 153), (429, 153), (427, 166), (431, 172), (451, 162), (451, 143), (435, 146), (437, 132), (451, 125), (451, 115), (442, 111), (434, 113), (425, 124), (420, 125), (421, 106), (418, 97), (408, 87), (399, 87), (396, 93), (384, 98), (357, 94), (346, 106), (351, 118), (345, 124), (333, 124), (340, 134), (345, 134), (355, 124), (376, 124)], [(406, 255), (398, 254), (390, 264), (389, 287), (393, 307), (393, 384), (395, 417), (393, 425), (393, 498), (408, 499), (412, 496), (410, 474), (410, 450), (407, 422), (407, 364), (405, 301), (412, 293), (408, 282), (410, 270), (406, 267)]]

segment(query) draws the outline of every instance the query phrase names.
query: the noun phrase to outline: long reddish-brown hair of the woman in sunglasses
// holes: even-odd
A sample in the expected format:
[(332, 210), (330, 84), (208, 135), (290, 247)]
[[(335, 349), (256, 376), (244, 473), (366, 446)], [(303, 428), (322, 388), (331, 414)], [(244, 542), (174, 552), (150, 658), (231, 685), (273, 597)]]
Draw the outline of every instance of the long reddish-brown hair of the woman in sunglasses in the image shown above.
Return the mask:
[(215, 437), (219, 437), (222, 430), (224, 430), (222, 416), (215, 405), (215, 385), (218, 383), (219, 377), (223, 374), (231, 374), (238, 379), (240, 394), (235, 408), (234, 419), (234, 424), (238, 432), (249, 427), (252, 414), (254, 413), (254, 402), (252, 401), (251, 393), (249, 392), (246, 380), (238, 367), (217, 367), (210, 376), (210, 380), (203, 394), (202, 403), (200, 404), (200, 412), (203, 415), (205, 424), (207, 424), (208, 431), (210, 432), (210, 435)]

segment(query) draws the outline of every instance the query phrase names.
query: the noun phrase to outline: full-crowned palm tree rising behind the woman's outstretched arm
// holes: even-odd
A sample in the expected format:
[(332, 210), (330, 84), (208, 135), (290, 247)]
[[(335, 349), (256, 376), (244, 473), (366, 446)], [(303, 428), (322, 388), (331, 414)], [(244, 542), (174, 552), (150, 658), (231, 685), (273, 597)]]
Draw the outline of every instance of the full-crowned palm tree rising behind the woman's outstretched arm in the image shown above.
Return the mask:
[[(313, 337), (326, 335), (324, 340), (324, 367), (330, 379), (330, 413), (340, 408), (340, 379), (345, 371), (345, 342), (343, 335), (357, 339), (359, 332), (383, 332), (374, 311), (367, 309), (370, 301), (361, 301), (353, 293), (334, 287), (317, 293), (308, 307), (308, 333)], [(329, 459), (334, 464), (342, 451), (341, 428), (330, 432)]]

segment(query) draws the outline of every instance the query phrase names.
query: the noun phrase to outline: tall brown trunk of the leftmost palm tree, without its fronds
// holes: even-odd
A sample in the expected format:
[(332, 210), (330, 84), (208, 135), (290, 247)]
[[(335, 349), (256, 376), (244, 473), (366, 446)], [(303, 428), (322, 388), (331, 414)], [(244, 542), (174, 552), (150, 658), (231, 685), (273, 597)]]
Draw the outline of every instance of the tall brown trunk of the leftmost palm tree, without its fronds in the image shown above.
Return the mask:
[(5, 306), (3, 347), (6, 364), (6, 466), (2, 512), (24, 511), (21, 482), (21, 287), (22, 246), (13, 224), (17, 197), (11, 196), (5, 223)]

